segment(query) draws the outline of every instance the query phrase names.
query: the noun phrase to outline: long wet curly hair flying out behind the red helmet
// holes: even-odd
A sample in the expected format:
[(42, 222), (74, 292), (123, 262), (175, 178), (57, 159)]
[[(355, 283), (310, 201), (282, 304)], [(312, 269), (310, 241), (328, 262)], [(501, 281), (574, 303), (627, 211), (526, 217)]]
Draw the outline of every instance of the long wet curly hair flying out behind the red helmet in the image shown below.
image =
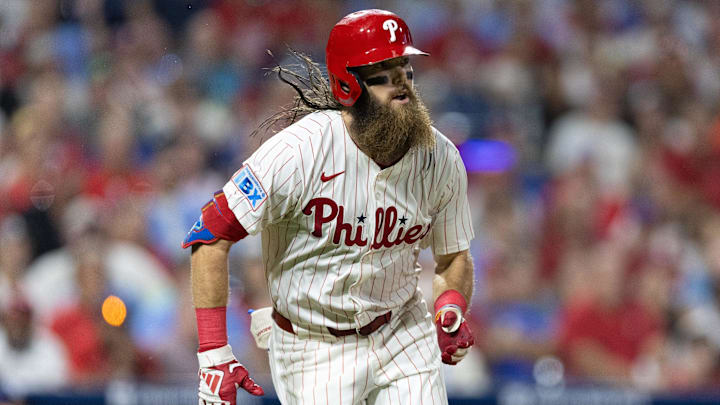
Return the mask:
[[(298, 63), (284, 66), (278, 64), (270, 69), (268, 74), (277, 74), (278, 79), (290, 85), (297, 95), (289, 106), (260, 123), (250, 136), (264, 134), (276, 128), (279, 123), (283, 124), (284, 128), (315, 111), (340, 110), (343, 107), (333, 97), (330, 82), (324, 74), (323, 68), (308, 55), (292, 48), (288, 48), (288, 51)], [(268, 54), (273, 56), (270, 51)]]

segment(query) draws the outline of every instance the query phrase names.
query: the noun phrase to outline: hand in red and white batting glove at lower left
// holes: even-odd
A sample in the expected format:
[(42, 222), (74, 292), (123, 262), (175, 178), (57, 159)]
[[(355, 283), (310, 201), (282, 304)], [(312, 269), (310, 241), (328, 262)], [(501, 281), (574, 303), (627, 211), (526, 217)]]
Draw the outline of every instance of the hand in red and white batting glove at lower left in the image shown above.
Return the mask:
[(235, 359), (230, 345), (198, 353), (198, 361), (198, 405), (235, 405), (241, 387), (253, 395), (265, 394)]

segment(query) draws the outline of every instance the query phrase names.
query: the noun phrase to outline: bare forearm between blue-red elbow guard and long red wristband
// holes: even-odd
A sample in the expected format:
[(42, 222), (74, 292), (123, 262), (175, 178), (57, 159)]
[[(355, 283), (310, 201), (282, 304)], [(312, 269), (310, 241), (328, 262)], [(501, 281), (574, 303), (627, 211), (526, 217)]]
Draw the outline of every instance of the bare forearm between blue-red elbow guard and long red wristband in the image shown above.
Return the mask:
[(195, 308), (227, 305), (230, 246), (232, 242), (221, 239), (210, 245), (198, 245), (193, 249), (190, 272)]

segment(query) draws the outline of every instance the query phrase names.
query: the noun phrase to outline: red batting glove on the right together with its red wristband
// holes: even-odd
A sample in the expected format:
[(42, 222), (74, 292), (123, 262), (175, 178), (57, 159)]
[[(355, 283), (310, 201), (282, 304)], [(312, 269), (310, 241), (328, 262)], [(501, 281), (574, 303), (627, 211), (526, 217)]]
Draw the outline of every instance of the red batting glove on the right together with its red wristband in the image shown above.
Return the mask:
[(457, 364), (475, 344), (472, 331), (463, 319), (466, 308), (465, 298), (456, 290), (445, 291), (435, 301), (438, 345), (445, 364)]

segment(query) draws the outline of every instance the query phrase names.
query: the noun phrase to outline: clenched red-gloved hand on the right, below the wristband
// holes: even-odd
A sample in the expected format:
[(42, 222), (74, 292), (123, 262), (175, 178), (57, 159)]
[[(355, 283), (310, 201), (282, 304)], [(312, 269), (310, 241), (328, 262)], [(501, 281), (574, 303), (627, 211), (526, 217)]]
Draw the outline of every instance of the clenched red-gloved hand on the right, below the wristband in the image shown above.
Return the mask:
[(475, 344), (462, 312), (455, 306), (444, 306), (435, 314), (435, 325), (443, 363), (457, 364), (468, 354), (470, 346)]

